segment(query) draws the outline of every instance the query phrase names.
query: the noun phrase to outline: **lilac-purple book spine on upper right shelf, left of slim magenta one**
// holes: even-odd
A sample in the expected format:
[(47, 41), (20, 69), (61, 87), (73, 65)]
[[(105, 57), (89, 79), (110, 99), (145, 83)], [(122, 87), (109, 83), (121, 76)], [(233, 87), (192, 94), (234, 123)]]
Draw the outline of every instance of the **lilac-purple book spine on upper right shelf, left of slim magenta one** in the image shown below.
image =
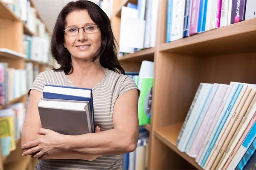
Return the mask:
[(199, 13), (199, 0), (191, 1), (191, 15), (190, 15), (190, 24), (189, 24), (189, 35), (194, 35), (197, 33), (198, 28), (198, 13)]

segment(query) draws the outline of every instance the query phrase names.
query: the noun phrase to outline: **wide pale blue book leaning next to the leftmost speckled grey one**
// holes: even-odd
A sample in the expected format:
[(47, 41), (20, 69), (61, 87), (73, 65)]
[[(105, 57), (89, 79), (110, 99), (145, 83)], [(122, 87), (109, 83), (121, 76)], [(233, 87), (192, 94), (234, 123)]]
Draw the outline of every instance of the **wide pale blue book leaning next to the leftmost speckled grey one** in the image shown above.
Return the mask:
[(189, 120), (186, 124), (184, 132), (183, 132), (180, 142), (178, 144), (178, 149), (181, 152), (184, 152), (186, 149), (186, 145), (189, 142), (190, 136), (192, 134), (192, 130), (194, 129), (196, 123), (198, 122), (198, 118), (200, 116), (202, 109), (204, 108), (204, 105), (207, 101), (210, 91), (212, 90), (212, 86), (213, 86), (213, 84), (203, 83), (203, 87), (200, 91), (200, 94), (198, 95), (198, 99), (195, 102), (193, 111), (192, 111), (191, 115), (189, 116)]

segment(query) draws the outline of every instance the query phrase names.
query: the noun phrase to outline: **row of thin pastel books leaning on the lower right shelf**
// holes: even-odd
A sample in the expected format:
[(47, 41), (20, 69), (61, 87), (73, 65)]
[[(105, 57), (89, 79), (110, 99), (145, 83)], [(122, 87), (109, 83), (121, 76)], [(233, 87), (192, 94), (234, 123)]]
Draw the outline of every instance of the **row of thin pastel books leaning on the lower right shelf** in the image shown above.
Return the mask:
[(201, 83), (177, 147), (204, 169), (247, 169), (256, 160), (256, 85)]

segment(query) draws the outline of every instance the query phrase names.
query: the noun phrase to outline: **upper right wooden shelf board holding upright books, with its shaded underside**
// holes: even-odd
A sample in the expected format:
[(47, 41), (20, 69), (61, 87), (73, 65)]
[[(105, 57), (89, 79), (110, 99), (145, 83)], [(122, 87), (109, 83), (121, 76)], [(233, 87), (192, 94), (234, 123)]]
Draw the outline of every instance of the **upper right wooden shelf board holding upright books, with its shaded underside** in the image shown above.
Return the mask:
[(256, 18), (164, 43), (159, 51), (185, 55), (218, 55), (256, 51)]

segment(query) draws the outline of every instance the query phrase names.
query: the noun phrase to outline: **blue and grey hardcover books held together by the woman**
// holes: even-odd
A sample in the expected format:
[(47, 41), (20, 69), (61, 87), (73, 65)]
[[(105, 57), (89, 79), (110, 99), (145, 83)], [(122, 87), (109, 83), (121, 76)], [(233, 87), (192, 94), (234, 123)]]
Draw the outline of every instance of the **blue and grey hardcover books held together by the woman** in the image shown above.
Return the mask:
[(44, 85), (38, 102), (43, 128), (66, 135), (95, 132), (92, 89)]

